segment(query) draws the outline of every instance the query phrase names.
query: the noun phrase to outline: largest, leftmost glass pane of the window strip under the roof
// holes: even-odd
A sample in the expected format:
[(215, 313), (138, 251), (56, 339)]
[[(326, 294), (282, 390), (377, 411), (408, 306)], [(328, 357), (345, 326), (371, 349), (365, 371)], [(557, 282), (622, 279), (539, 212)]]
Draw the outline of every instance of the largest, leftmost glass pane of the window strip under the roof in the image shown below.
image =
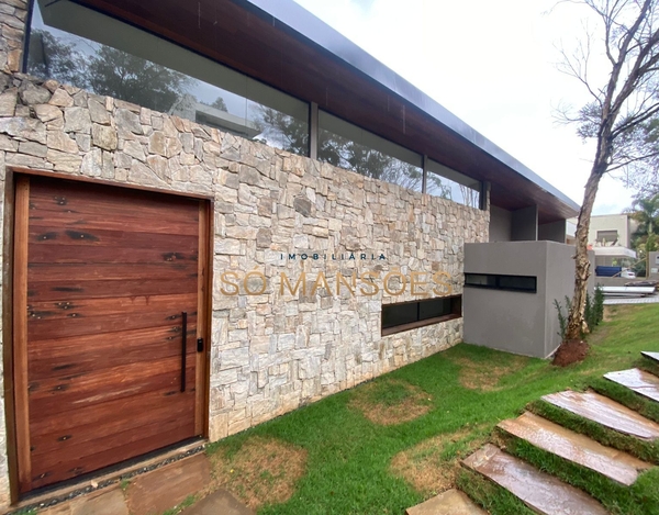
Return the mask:
[(309, 155), (306, 103), (70, 2), (34, 3), (27, 72)]

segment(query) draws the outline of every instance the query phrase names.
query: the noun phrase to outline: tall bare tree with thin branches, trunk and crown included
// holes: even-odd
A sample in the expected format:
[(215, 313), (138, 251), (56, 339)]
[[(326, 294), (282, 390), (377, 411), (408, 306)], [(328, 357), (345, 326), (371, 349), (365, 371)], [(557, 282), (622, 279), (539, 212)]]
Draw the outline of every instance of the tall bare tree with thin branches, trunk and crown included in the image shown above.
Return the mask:
[[(596, 142), (590, 177), (577, 223), (574, 296), (566, 339), (588, 332), (584, 320), (588, 278), (588, 233), (597, 187), (604, 173), (623, 167), (651, 166), (659, 154), (648, 130), (659, 116), (659, 0), (573, 0), (585, 5), (602, 30), (595, 40), (585, 30), (577, 49), (563, 51), (561, 70), (585, 88), (591, 100), (577, 112), (562, 111), (563, 121), (576, 123), (582, 138)], [(607, 64), (606, 80), (593, 80), (592, 57)], [(654, 133), (651, 133), (654, 134)], [(648, 142), (650, 144), (648, 144)]]

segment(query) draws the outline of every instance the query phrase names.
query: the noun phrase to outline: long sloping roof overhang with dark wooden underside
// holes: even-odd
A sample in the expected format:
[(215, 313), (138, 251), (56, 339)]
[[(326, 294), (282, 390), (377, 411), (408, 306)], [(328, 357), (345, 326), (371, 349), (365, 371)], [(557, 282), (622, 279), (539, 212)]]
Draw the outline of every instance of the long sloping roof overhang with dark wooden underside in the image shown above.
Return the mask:
[(558, 189), (292, 0), (72, 1), (489, 181), (493, 205), (510, 211), (537, 205), (541, 224), (574, 216), (579, 210)]

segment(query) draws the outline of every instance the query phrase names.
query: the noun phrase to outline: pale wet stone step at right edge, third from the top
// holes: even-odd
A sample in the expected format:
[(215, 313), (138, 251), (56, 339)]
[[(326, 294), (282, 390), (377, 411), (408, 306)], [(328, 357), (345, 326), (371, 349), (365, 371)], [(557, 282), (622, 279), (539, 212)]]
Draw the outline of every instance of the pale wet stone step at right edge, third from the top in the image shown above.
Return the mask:
[(543, 401), (618, 433), (645, 440), (659, 438), (659, 424), (648, 421), (635, 411), (594, 392), (581, 393), (568, 390), (545, 395)]

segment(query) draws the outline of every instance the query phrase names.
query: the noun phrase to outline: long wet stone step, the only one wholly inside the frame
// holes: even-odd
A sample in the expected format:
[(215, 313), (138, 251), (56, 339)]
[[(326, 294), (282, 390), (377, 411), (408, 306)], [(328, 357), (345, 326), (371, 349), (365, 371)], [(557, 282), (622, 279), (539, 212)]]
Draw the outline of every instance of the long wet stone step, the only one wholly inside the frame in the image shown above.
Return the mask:
[(566, 429), (533, 413), (499, 423), (506, 433), (561, 458), (581, 464), (605, 475), (625, 486), (632, 485), (638, 478), (638, 471), (647, 470), (651, 464), (602, 444)]

